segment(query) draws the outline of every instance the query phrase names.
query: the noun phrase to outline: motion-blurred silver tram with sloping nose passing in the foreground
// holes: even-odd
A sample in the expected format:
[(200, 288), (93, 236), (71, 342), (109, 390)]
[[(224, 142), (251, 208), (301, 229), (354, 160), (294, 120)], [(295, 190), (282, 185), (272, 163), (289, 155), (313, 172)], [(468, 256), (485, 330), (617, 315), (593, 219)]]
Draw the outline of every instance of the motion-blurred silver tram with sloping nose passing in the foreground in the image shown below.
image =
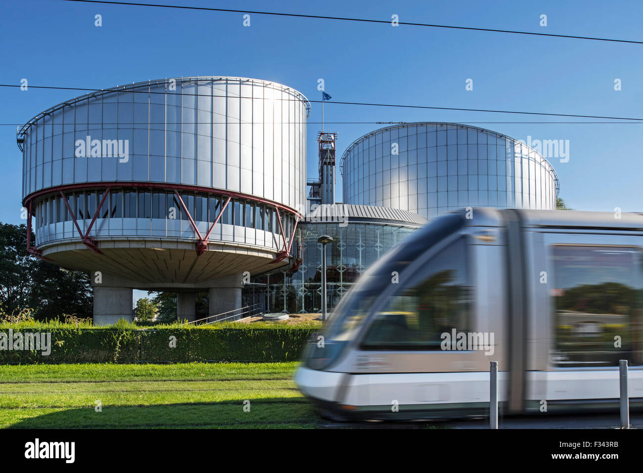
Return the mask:
[(336, 420), (643, 405), (643, 215), (467, 208), (370, 267), (304, 350), (295, 382)]

